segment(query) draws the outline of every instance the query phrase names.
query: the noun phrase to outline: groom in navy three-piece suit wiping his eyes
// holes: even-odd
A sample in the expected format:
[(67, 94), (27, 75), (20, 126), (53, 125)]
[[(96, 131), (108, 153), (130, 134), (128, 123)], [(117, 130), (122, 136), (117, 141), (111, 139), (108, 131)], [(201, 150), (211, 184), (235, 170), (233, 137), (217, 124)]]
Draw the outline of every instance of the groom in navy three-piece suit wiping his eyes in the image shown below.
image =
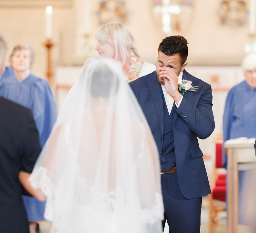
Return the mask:
[[(214, 130), (212, 90), (184, 70), (187, 44), (182, 36), (163, 39), (156, 71), (129, 83), (158, 147), (163, 228), (167, 220), (172, 233), (200, 232), (202, 196), (211, 192), (197, 137), (205, 139)], [(182, 80), (198, 89), (188, 82), (190, 90), (183, 94), (178, 89)]]

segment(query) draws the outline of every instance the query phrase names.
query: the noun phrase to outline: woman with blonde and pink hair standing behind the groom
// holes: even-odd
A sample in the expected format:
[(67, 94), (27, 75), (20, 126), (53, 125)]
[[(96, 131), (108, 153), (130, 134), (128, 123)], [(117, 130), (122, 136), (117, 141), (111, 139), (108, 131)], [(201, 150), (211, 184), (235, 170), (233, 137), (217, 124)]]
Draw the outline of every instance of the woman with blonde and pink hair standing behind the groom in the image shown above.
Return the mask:
[(102, 25), (95, 34), (95, 49), (99, 56), (113, 58), (122, 63), (126, 81), (130, 82), (156, 70), (156, 67), (144, 62), (134, 48), (134, 39), (128, 29), (119, 22)]

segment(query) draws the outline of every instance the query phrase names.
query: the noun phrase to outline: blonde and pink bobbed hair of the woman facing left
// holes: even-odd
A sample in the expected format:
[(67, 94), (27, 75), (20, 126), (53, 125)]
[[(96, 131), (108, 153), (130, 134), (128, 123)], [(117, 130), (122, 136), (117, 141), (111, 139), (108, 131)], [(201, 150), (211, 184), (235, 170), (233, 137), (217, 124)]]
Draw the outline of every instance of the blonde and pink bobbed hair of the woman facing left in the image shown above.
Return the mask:
[(131, 50), (138, 56), (134, 48), (133, 36), (128, 29), (123, 24), (112, 21), (102, 25), (97, 30), (95, 39), (113, 46), (115, 50), (114, 59), (121, 61), (124, 73), (128, 73), (131, 63)]

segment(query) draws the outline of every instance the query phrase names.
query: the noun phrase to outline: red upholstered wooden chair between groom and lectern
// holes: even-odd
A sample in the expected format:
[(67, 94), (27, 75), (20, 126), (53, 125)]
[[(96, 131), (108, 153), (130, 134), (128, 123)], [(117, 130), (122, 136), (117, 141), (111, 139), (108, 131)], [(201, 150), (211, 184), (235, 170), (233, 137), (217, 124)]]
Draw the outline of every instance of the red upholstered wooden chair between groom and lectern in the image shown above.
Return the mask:
[(216, 232), (216, 226), (220, 218), (219, 211), (226, 211), (226, 174), (219, 174), (218, 170), (222, 168), (222, 141), (216, 142), (216, 160), (215, 160), (215, 181), (209, 195), (209, 233)]

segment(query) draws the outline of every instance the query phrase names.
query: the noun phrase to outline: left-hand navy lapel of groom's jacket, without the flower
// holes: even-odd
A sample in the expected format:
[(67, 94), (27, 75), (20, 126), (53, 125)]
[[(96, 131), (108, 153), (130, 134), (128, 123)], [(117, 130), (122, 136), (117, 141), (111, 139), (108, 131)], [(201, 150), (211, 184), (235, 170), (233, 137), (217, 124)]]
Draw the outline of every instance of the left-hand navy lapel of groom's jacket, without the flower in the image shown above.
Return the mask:
[(155, 105), (156, 113), (158, 116), (158, 121), (162, 133), (164, 132), (164, 107), (163, 107), (163, 98), (162, 98), (162, 87), (157, 81), (156, 72), (152, 73), (151, 76), (147, 79), (153, 103)]

